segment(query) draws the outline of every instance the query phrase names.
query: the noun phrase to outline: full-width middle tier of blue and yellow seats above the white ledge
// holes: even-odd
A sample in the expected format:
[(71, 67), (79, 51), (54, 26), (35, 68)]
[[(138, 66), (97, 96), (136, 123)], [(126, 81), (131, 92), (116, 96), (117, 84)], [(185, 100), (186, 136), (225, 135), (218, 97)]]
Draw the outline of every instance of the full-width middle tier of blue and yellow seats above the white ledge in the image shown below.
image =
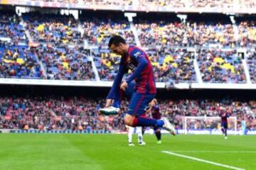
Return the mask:
[(120, 59), (107, 47), (112, 34), (149, 54), (156, 82), (256, 83), (255, 16), (138, 13), (128, 21), (117, 11), (1, 10), (0, 77), (112, 81)]

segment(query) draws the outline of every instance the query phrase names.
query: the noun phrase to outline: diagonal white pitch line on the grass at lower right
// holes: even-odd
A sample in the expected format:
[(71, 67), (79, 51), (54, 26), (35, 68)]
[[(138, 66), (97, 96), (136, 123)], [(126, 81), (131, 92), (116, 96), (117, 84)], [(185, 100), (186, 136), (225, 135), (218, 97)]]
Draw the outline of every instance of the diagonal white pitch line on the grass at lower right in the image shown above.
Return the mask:
[(204, 163), (207, 163), (207, 164), (213, 164), (215, 166), (223, 166), (223, 167), (228, 168), (228, 169), (245, 170), (245, 169), (241, 169), (241, 168), (238, 168), (238, 167), (235, 167), (235, 166), (230, 166), (230, 165), (219, 164), (219, 163), (216, 163), (216, 162), (207, 161), (205, 159), (199, 159), (199, 158), (196, 158), (196, 157), (189, 157), (189, 156), (186, 156), (186, 155), (183, 155), (183, 154), (176, 154), (174, 152), (169, 152), (169, 151), (162, 151), (162, 152), (166, 153), (166, 154), (172, 154), (172, 155), (177, 156), (177, 157), (183, 157), (183, 158), (187, 158), (187, 159), (192, 159), (192, 160), (195, 160), (195, 161), (198, 161), (198, 162), (204, 162)]

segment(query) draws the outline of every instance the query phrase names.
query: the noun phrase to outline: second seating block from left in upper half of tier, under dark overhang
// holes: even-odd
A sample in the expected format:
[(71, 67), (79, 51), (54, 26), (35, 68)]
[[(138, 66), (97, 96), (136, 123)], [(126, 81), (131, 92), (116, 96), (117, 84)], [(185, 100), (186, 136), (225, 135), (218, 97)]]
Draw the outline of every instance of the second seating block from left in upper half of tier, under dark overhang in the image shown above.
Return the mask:
[(78, 21), (73, 16), (33, 12), (24, 14), (23, 19), (34, 42), (51, 42), (54, 45), (83, 44)]

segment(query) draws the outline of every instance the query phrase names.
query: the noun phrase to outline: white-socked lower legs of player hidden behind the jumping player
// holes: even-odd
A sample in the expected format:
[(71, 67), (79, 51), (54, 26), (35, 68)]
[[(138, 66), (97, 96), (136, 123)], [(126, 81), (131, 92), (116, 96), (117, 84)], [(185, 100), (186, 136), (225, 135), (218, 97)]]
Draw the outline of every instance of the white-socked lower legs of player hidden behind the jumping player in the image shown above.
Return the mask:
[(129, 125), (126, 125), (126, 128), (128, 129), (128, 142), (129, 142), (129, 147), (134, 147), (135, 145), (132, 143), (132, 134), (137, 133), (138, 135), (138, 142), (139, 145), (146, 145), (146, 143), (143, 141), (143, 135), (142, 135), (142, 127), (132, 127)]

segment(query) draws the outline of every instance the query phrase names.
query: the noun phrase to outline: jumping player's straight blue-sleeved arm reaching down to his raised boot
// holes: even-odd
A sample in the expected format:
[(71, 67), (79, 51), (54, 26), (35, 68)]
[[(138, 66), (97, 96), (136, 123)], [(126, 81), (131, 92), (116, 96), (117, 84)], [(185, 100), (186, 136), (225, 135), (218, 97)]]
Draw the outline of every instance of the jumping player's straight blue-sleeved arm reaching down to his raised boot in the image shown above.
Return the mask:
[(117, 76), (114, 77), (114, 83), (110, 89), (109, 94), (107, 95), (107, 100), (113, 100), (114, 94), (119, 90), (119, 85), (121, 84), (122, 78), (124, 77), (124, 65), (120, 64)]

